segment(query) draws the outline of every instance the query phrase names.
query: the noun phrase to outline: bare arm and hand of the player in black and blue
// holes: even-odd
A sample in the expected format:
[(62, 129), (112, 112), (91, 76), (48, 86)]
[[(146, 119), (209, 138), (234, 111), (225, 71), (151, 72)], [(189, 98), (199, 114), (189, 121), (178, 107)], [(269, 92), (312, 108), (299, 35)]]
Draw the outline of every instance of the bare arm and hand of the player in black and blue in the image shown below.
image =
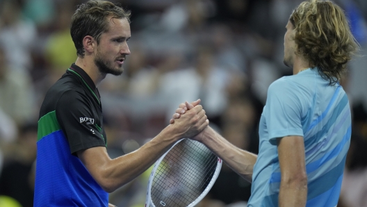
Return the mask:
[(165, 127), (153, 140), (131, 154), (111, 159), (106, 147), (91, 147), (78, 151), (77, 156), (101, 188), (106, 192), (113, 192), (152, 166), (174, 142), (180, 138), (197, 135), (208, 124), (202, 106), (195, 106), (182, 115), (181, 119)]

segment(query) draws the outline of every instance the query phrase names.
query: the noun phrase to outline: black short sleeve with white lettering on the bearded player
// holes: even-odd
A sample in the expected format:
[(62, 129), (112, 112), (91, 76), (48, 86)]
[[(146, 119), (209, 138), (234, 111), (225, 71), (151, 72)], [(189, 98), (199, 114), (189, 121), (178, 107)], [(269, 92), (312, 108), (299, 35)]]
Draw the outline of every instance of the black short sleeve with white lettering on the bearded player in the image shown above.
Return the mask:
[(99, 116), (85, 94), (76, 90), (65, 92), (56, 105), (56, 117), (72, 154), (81, 149), (106, 146)]

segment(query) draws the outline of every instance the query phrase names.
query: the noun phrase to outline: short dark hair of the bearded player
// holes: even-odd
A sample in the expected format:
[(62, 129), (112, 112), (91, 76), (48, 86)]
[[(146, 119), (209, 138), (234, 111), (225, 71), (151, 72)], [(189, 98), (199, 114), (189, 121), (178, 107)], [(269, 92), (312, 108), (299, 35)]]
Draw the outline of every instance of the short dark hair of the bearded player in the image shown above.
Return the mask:
[(110, 1), (90, 0), (82, 3), (72, 15), (70, 33), (76, 54), (84, 56), (83, 38), (87, 35), (99, 43), (101, 33), (108, 31), (108, 18), (126, 18), (130, 23), (130, 11), (126, 11)]

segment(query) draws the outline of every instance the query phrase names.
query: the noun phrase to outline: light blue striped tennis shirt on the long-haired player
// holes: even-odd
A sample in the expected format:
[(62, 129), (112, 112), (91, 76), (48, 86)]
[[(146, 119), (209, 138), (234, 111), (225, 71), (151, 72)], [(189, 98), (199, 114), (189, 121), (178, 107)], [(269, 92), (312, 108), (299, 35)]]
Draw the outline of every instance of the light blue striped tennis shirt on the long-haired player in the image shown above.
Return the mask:
[(278, 206), (277, 139), (288, 135), (304, 138), (307, 206), (336, 206), (351, 135), (349, 101), (341, 85), (329, 85), (317, 68), (279, 78), (268, 89), (259, 135), (248, 207)]

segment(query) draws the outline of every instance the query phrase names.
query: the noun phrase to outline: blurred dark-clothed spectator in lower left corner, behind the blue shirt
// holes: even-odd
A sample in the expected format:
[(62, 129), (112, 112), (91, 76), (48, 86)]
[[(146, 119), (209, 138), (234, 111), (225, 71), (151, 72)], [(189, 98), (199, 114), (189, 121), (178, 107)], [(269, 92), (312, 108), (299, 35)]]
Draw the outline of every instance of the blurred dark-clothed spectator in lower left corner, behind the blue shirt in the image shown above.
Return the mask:
[(37, 123), (20, 127), (17, 142), (10, 146), (0, 176), (0, 194), (12, 197), (23, 207), (33, 206)]

